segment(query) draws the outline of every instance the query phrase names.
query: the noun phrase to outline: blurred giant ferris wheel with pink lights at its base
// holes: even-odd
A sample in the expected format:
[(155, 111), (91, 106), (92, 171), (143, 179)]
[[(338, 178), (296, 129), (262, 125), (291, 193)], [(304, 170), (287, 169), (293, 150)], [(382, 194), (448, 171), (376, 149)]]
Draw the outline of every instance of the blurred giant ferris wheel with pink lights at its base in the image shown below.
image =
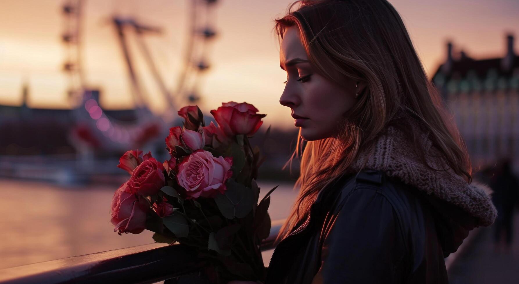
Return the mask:
[[(159, 115), (149, 109), (143, 95), (144, 88), (139, 73), (136, 72), (134, 54), (128, 48), (129, 33), (135, 39), (138, 52), (144, 58), (153, 81), (165, 99), (167, 109), (197, 103), (201, 96), (198, 93), (201, 78), (209, 69), (209, 49), (215, 38), (215, 3), (216, 0), (189, 0), (187, 38), (185, 54), (180, 56), (182, 68), (179, 75), (167, 78), (175, 87), (167, 87), (165, 78), (160, 74), (153, 61), (152, 51), (146, 45), (146, 36), (161, 34), (161, 28), (144, 24), (132, 17), (113, 16), (110, 24), (116, 31), (116, 38), (126, 65), (128, 83), (135, 105), (135, 120), (131, 123), (110, 116), (99, 105), (99, 92), (89, 90), (86, 81), (86, 70), (83, 59), (83, 19), (86, 0), (67, 0), (63, 6), (64, 32), (62, 41), (65, 46), (65, 62), (63, 70), (67, 75), (68, 98), (74, 108), (77, 127), (74, 136), (91, 147), (103, 145), (109, 150), (127, 150), (153, 141), (160, 132), (175, 124), (176, 111), (166, 111)], [(122, 72), (122, 70), (121, 70)]]

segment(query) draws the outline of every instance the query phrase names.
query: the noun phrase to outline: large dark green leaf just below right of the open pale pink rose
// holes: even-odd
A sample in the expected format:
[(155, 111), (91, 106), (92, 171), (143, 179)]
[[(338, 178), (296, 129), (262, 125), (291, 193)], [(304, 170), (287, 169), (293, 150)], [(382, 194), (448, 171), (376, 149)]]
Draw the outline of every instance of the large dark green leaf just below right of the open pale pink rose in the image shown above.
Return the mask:
[(243, 218), (249, 214), (253, 206), (252, 190), (236, 181), (227, 181), (224, 194), (217, 193), (214, 201), (222, 215), (227, 219)]

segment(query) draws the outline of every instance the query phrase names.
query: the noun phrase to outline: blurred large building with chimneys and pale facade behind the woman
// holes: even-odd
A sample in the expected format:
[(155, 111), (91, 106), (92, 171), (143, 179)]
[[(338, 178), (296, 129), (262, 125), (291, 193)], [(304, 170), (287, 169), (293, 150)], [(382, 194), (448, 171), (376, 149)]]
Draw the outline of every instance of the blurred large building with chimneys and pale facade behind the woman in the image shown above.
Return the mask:
[(474, 166), (507, 157), (519, 161), (519, 58), (514, 37), (506, 36), (502, 57), (482, 60), (447, 44), (445, 62), (433, 82), (452, 111)]

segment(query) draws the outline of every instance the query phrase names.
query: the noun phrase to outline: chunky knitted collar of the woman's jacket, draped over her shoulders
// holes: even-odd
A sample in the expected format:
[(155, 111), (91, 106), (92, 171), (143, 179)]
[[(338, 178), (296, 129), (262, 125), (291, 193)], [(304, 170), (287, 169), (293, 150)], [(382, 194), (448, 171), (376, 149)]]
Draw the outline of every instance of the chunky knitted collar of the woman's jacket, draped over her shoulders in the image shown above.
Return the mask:
[[(425, 135), (421, 139), (429, 165), (436, 169), (445, 168), (440, 160), (433, 159), (439, 155), (432, 147), (431, 140)], [(491, 189), (488, 186), (475, 181), (469, 184), (452, 169), (433, 171), (422, 164), (411, 149), (403, 131), (390, 126), (372, 147), (359, 153), (358, 159), (350, 167), (351, 171), (384, 171), (387, 176), (399, 178), (420, 191), (458, 206), (476, 219), (477, 226), (488, 226), (494, 222), (497, 210), (491, 202)]]

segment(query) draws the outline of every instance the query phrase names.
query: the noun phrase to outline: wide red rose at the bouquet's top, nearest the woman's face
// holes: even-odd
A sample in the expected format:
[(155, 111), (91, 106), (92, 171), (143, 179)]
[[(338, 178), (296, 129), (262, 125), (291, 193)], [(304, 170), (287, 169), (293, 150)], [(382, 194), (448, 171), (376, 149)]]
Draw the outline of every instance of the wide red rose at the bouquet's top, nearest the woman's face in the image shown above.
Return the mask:
[(236, 102), (222, 103), (217, 110), (211, 110), (218, 126), (228, 137), (238, 134), (254, 135), (263, 124), (261, 119), (267, 116), (256, 112), (258, 110), (253, 105)]

